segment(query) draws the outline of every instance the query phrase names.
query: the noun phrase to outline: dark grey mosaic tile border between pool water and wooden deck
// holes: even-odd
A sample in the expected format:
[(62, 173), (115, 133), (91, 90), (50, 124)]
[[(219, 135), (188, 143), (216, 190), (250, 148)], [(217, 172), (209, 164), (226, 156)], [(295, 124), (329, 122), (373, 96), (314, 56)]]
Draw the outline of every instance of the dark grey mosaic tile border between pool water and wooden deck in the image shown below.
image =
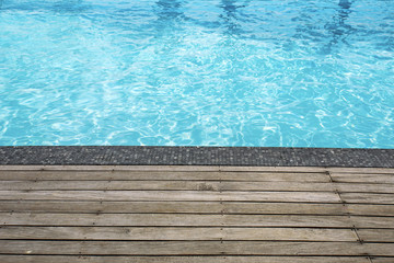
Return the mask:
[(394, 149), (26, 146), (0, 147), (0, 164), (394, 168)]

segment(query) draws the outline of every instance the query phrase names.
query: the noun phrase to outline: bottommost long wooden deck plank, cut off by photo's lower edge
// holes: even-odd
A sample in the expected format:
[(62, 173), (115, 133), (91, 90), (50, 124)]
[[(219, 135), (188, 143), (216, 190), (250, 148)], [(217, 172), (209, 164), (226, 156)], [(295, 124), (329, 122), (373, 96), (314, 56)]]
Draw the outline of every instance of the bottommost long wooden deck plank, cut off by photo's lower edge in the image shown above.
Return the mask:
[[(378, 260), (378, 259), (376, 259)], [(1, 255), (2, 263), (371, 263), (364, 256), (81, 256)], [(376, 261), (378, 262), (378, 261)], [(392, 263), (379, 261), (378, 263)]]

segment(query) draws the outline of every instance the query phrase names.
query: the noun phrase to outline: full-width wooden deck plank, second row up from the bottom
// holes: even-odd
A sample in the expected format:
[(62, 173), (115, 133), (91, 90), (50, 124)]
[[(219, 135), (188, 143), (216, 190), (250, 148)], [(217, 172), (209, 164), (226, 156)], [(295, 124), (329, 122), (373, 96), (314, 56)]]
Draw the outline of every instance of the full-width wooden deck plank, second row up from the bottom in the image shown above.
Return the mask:
[(0, 240), (0, 253), (79, 255), (364, 255), (394, 256), (393, 243), (269, 241)]

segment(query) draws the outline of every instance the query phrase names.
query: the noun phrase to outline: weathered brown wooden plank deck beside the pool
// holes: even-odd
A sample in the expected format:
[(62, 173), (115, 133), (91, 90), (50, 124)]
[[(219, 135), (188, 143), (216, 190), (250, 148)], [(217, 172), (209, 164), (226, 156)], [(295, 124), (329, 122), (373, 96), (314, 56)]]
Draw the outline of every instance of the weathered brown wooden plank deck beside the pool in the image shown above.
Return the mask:
[(1, 263), (393, 263), (394, 169), (0, 167)]

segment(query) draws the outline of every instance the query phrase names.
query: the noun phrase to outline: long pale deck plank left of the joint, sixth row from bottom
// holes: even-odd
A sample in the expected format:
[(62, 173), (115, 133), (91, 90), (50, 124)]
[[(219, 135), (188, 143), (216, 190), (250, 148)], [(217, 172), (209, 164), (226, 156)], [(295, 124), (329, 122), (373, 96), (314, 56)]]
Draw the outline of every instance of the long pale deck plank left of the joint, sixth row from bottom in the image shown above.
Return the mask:
[(51, 201), (247, 201), (340, 203), (328, 192), (201, 192), (201, 191), (0, 191), (0, 199)]

